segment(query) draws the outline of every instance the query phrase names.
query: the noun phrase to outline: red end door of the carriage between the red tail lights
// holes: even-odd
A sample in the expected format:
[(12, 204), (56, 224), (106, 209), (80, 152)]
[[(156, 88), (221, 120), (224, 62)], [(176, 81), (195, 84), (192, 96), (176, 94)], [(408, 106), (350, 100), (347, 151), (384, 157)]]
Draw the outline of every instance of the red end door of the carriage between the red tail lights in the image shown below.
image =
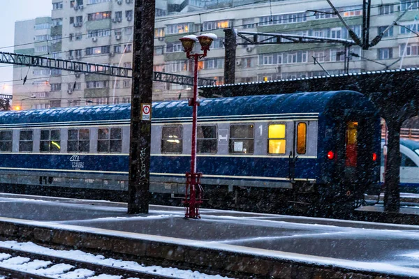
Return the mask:
[(346, 124), (345, 141), (345, 177), (356, 181), (356, 167), (358, 165), (358, 122), (350, 121)]

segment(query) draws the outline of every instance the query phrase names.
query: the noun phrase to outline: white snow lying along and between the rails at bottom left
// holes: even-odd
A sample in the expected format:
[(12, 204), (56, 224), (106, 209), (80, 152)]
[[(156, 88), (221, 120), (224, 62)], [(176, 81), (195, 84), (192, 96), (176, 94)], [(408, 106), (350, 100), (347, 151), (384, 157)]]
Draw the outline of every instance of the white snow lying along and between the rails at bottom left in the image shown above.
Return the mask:
[[(0, 247), (4, 248), (13, 248), (14, 250), (30, 251), (36, 252), (43, 255), (52, 255), (54, 257), (65, 257), (67, 259), (75, 259), (78, 261), (91, 262), (94, 264), (101, 264), (103, 266), (117, 266), (124, 269), (132, 269), (135, 271), (143, 271), (148, 273), (159, 274), (163, 276), (174, 276), (175, 278), (186, 278), (186, 279), (220, 279), (227, 278), (223, 276), (211, 276), (207, 274), (200, 273), (198, 271), (191, 270), (181, 270), (175, 269), (172, 267), (161, 267), (161, 266), (145, 266), (143, 264), (138, 264), (137, 262), (128, 262), (122, 261), (120, 259), (105, 258), (103, 255), (93, 255), (80, 250), (53, 250), (51, 248), (45, 248), (43, 246), (38, 246), (35, 243), (26, 242), (18, 243), (17, 241), (0, 241)], [(37, 273), (43, 276), (53, 276), (54, 274), (59, 274), (64, 271), (68, 271), (72, 266), (68, 264), (56, 264), (49, 269), (43, 269), (47, 266), (49, 262), (45, 261), (34, 261), (33, 264), (29, 263), (29, 258), (24, 257), (14, 257), (10, 258), (10, 255), (0, 254), (0, 260), (6, 259), (1, 262), (3, 267), (13, 267), (15, 269), (26, 269), (28, 272)], [(9, 261), (9, 262), (8, 262)], [(26, 264), (26, 265), (25, 265)], [(24, 267), (22, 265), (25, 265)], [(77, 269), (71, 273), (66, 274), (66, 276), (60, 276), (59, 278), (82, 278), (82, 276), (93, 276), (91, 271), (86, 269)], [(96, 276), (93, 278), (98, 279), (117, 279), (118, 276)], [(1, 278), (0, 278), (1, 279)]]

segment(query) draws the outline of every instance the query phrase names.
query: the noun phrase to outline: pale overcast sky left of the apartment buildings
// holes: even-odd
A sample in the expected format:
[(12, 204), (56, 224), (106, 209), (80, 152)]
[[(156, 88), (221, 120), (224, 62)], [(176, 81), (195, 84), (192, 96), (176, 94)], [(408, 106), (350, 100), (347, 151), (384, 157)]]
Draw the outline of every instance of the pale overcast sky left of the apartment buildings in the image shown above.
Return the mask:
[[(1, 0), (1, 2), (3, 3), (0, 8), (1, 52), (13, 52), (13, 47), (10, 46), (13, 46), (14, 42), (16, 21), (51, 15), (51, 0)], [(0, 64), (0, 93), (11, 93), (12, 83), (5, 83), (5, 81), (12, 79), (12, 67), (8, 64)]]

